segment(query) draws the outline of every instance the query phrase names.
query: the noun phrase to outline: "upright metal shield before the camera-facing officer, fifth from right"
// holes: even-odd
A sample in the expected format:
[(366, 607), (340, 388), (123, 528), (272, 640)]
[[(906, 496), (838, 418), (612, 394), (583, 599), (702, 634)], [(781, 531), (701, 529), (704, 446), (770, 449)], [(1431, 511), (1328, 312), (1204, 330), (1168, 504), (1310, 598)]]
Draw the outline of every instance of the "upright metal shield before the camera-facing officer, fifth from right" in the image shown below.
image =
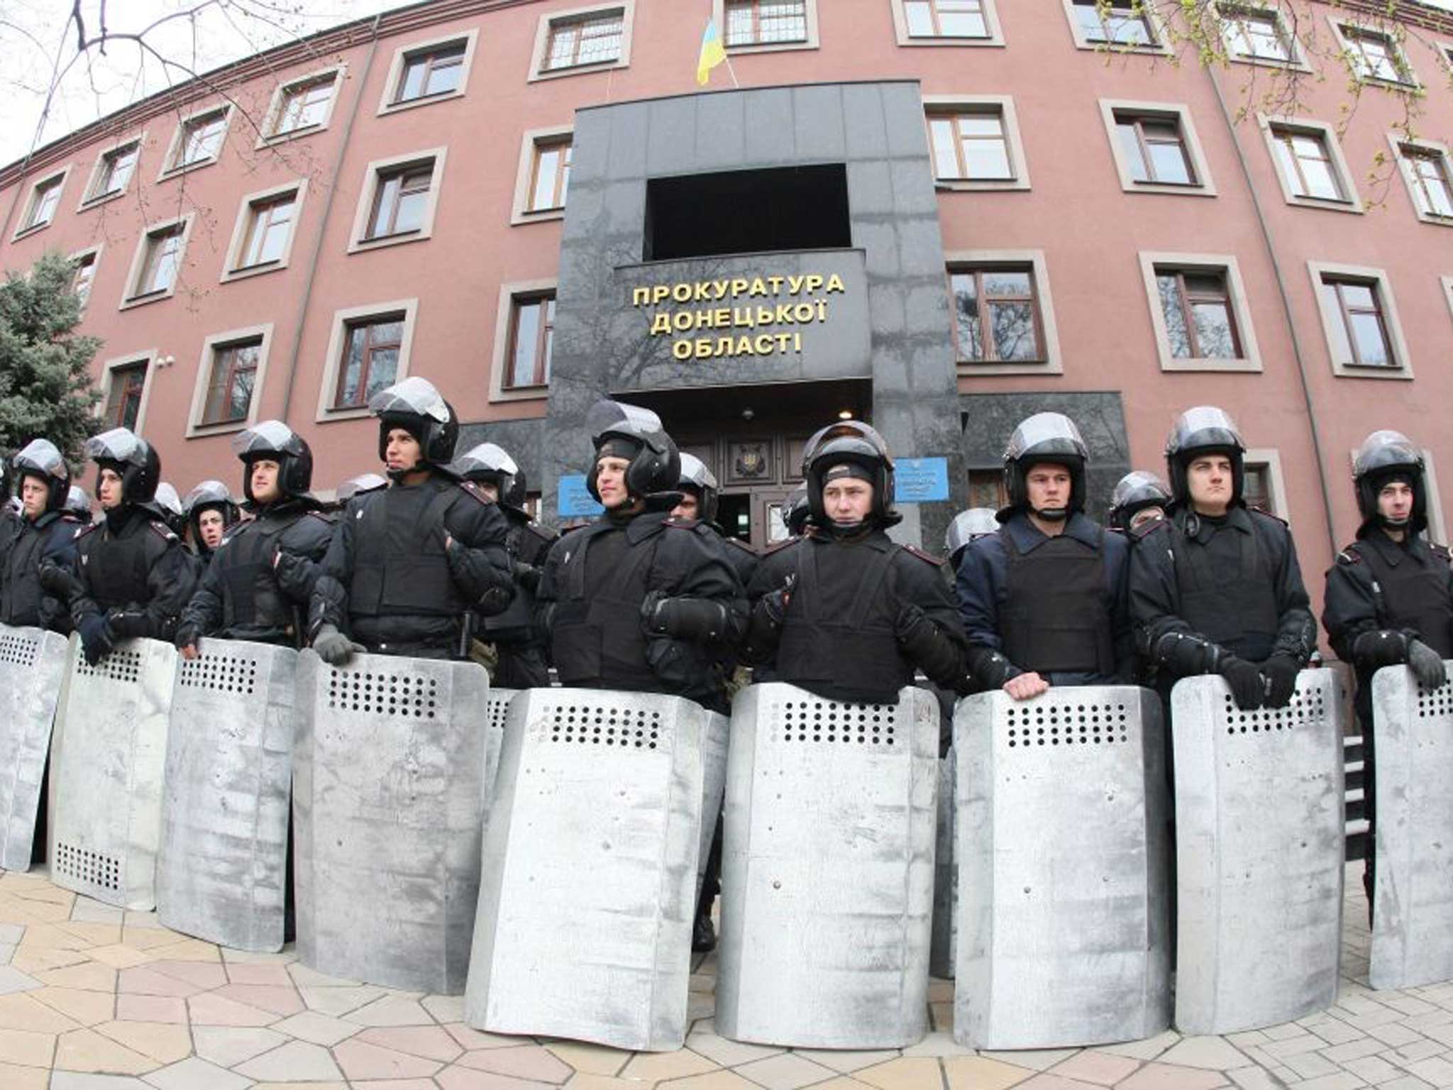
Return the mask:
[(927, 1029), (939, 702), (785, 683), (732, 708), (716, 1032), (901, 1048)]

